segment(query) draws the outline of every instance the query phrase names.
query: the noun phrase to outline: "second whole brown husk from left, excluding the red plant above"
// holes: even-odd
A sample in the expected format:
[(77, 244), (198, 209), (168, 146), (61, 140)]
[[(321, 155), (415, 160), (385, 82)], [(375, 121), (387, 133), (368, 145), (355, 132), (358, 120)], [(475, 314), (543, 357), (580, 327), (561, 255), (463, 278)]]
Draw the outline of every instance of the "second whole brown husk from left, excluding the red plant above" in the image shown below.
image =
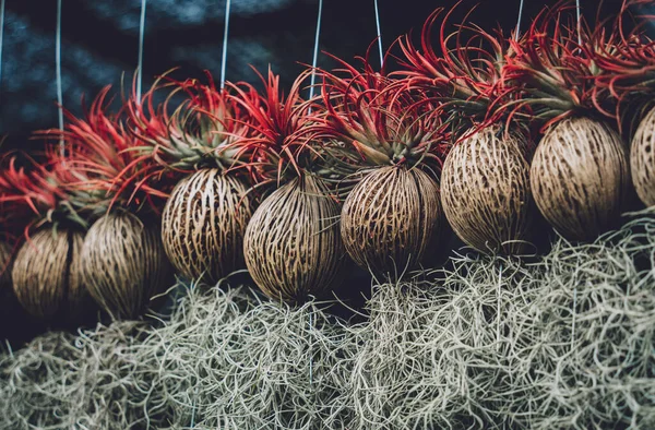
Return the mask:
[(82, 273), (91, 296), (115, 319), (133, 319), (168, 288), (171, 267), (156, 222), (129, 212), (102, 216), (82, 246)]

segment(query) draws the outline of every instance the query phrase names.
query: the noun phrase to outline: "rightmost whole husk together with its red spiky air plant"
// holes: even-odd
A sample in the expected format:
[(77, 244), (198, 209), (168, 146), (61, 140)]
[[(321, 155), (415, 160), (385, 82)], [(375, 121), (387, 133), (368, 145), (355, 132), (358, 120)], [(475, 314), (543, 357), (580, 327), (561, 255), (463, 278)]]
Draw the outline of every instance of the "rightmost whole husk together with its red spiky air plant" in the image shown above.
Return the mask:
[[(580, 31), (579, 31), (580, 29)], [(523, 94), (505, 104), (509, 116), (538, 123), (541, 138), (531, 186), (545, 218), (565, 238), (591, 240), (619, 217), (628, 194), (627, 147), (600, 110), (611, 111), (596, 86), (603, 71), (588, 52), (610, 51), (616, 40), (574, 21), (570, 1), (544, 10), (503, 68), (504, 84)], [(580, 38), (580, 41), (579, 41)]]

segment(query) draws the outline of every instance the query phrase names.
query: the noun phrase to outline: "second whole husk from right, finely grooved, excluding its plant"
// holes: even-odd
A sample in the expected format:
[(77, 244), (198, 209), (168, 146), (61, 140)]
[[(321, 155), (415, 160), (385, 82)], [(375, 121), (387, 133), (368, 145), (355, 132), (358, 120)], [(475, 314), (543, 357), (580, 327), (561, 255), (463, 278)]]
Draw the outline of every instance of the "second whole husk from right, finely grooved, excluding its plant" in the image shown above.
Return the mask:
[(483, 252), (520, 253), (536, 207), (525, 142), (488, 128), (457, 143), (441, 171), (441, 203), (455, 234)]

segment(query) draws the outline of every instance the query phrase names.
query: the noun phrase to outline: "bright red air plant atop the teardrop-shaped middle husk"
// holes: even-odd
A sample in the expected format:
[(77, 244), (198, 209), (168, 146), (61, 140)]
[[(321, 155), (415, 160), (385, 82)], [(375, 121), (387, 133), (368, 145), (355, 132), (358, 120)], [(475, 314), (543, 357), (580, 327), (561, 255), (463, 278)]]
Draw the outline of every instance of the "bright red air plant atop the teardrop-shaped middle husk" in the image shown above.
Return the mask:
[(309, 128), (314, 120), (310, 115), (314, 100), (300, 97), (302, 82), (310, 71), (295, 80), (288, 95), (281, 89), (279, 76), (271, 69), (266, 77), (254, 71), (264, 85), (262, 94), (245, 82), (228, 83), (234, 92), (231, 98), (245, 111), (240, 122), (249, 129), (239, 142), (248, 160), (237, 168), (248, 168), (258, 183), (281, 183), (312, 168), (320, 156), (315, 142), (312, 143), (315, 133)]

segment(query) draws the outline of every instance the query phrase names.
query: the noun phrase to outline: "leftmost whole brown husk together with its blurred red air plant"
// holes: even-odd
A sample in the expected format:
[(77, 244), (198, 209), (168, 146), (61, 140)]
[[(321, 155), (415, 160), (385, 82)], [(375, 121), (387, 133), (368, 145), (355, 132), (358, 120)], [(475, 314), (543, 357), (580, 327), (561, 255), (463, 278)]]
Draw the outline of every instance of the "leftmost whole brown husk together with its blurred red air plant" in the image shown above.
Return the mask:
[[(24, 166), (19, 167), (20, 158)], [(11, 267), (16, 299), (36, 318), (73, 322), (88, 310), (80, 270), (86, 222), (84, 208), (74, 207), (75, 193), (67, 188), (73, 170), (62, 166), (62, 160), (59, 148), (51, 146), (41, 163), (7, 154), (0, 175), (0, 205), (9, 211), (3, 214), (4, 227), (15, 232), (17, 224), (23, 225), (24, 241)], [(5, 238), (11, 235), (4, 232)], [(11, 254), (16, 246), (10, 248)]]

